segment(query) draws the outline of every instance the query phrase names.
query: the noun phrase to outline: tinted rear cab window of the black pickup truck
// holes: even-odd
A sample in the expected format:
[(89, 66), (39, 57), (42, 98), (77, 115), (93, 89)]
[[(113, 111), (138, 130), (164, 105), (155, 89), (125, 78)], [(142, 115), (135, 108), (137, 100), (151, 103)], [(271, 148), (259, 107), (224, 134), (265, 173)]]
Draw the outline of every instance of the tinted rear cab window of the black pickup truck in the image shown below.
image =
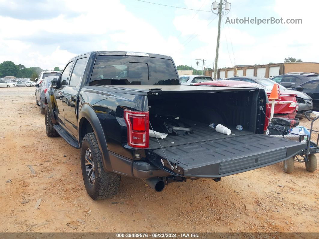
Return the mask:
[(90, 86), (179, 84), (172, 60), (143, 56), (98, 56), (90, 80)]

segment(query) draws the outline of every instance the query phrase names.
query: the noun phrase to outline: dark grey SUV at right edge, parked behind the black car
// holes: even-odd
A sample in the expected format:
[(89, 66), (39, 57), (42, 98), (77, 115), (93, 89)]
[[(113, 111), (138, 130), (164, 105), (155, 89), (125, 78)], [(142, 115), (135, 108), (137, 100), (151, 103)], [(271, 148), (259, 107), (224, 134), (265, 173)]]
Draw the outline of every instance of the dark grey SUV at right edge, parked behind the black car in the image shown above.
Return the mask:
[(271, 79), (286, 88), (294, 88), (309, 80), (319, 79), (319, 75), (315, 73), (291, 72)]

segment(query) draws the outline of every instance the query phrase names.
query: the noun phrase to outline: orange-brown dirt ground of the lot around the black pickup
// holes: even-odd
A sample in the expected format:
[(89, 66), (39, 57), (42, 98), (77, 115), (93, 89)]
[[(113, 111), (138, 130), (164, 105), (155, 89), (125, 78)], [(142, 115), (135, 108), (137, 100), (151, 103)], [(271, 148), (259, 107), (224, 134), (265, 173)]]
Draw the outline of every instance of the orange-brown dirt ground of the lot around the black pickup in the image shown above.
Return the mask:
[(304, 163), (292, 174), (278, 163), (218, 183), (171, 183), (161, 193), (122, 176), (116, 196), (94, 201), (80, 151), (47, 137), (34, 87), (0, 88), (0, 102), (0, 232), (319, 231), (319, 170)]

